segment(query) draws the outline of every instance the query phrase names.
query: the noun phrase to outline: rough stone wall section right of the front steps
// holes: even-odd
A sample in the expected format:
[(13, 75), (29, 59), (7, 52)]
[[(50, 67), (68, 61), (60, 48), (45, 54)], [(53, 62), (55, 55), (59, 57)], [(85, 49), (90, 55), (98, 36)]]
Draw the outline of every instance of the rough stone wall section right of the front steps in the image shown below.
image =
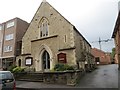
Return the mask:
[(66, 85), (76, 85), (79, 79), (84, 74), (84, 71), (57, 71), (57, 72), (44, 72), (44, 83), (57, 83)]

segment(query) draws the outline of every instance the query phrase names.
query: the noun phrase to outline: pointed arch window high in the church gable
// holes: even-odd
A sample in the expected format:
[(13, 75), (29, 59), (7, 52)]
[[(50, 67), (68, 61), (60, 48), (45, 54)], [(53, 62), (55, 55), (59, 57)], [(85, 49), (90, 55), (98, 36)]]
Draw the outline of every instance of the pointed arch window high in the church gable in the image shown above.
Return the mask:
[(40, 23), (40, 37), (47, 37), (49, 31), (48, 20), (43, 18)]

